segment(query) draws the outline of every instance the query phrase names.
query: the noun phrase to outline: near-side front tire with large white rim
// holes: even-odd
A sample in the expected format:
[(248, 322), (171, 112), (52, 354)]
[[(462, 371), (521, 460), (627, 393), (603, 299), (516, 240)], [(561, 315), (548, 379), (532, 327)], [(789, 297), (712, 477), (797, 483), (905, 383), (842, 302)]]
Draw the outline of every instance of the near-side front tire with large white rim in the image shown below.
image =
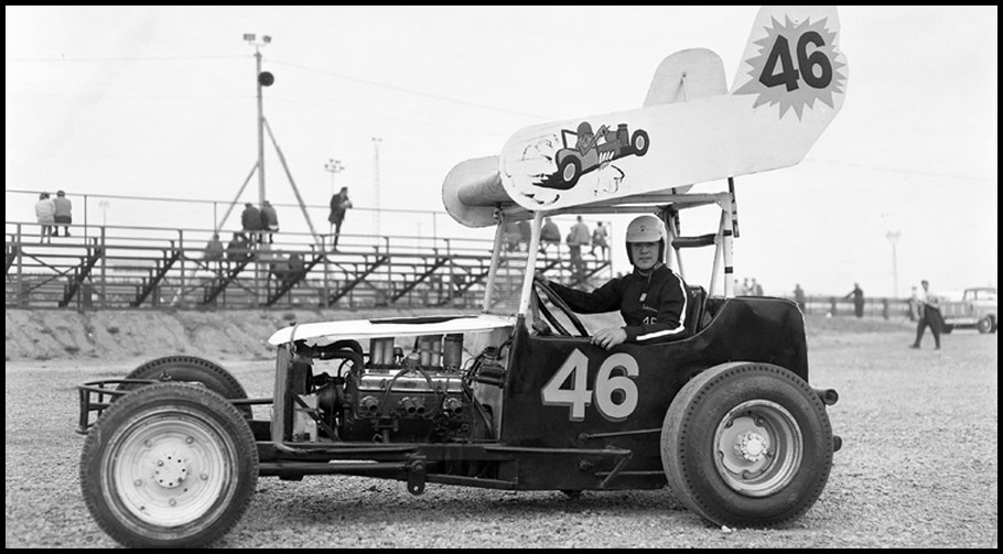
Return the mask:
[(116, 542), (184, 548), (226, 534), (258, 482), (250, 426), (202, 387), (155, 383), (111, 404), (87, 434), (80, 490)]

